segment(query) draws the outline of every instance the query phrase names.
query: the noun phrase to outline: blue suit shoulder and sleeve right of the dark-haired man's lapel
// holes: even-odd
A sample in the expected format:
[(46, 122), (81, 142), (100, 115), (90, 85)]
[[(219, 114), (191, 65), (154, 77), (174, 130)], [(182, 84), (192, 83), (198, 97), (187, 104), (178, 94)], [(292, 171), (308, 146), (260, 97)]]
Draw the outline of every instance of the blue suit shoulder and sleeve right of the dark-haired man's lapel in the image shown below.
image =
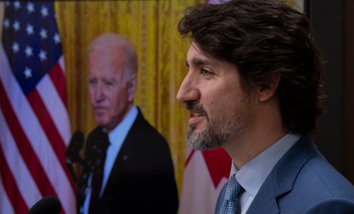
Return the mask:
[(331, 213), (335, 207), (352, 211), (354, 186), (317, 152), (300, 169), (292, 189), (277, 199), (281, 213)]

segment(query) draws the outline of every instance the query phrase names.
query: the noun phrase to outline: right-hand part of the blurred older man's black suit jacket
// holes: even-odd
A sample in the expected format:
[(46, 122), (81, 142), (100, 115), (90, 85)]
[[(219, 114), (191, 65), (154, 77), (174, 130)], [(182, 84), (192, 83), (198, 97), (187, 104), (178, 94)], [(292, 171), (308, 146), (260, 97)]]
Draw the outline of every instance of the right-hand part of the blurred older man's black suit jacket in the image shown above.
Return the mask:
[(177, 213), (169, 145), (140, 109), (119, 150), (100, 204), (102, 214)]

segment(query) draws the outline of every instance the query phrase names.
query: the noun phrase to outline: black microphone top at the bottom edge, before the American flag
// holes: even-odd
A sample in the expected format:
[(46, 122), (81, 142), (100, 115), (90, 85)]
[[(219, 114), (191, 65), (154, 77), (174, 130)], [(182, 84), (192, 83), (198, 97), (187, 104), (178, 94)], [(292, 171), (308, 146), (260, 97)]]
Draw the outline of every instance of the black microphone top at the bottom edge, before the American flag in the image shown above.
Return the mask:
[(58, 198), (49, 195), (37, 201), (37, 203), (29, 209), (28, 214), (59, 214), (60, 210), (61, 203)]

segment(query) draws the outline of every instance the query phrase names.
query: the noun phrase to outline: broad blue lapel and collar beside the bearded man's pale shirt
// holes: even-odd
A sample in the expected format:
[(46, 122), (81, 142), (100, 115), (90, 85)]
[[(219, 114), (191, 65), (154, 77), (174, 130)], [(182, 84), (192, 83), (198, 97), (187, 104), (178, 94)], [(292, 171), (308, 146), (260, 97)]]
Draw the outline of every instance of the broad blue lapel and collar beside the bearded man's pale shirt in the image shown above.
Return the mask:
[(277, 197), (292, 190), (299, 171), (316, 151), (311, 136), (303, 135), (274, 166), (247, 214), (278, 214)]

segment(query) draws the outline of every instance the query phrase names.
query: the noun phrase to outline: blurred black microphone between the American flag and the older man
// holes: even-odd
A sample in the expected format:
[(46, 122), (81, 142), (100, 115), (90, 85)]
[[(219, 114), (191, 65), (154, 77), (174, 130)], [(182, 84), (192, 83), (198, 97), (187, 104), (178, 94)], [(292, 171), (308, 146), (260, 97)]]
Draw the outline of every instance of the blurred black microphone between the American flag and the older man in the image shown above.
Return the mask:
[(81, 150), (84, 144), (84, 134), (79, 130), (76, 131), (71, 137), (68, 148), (65, 151), (66, 168), (69, 169), (71, 176), (76, 181), (76, 176), (73, 169), (73, 163), (79, 162), (83, 164), (84, 160), (81, 159)]

